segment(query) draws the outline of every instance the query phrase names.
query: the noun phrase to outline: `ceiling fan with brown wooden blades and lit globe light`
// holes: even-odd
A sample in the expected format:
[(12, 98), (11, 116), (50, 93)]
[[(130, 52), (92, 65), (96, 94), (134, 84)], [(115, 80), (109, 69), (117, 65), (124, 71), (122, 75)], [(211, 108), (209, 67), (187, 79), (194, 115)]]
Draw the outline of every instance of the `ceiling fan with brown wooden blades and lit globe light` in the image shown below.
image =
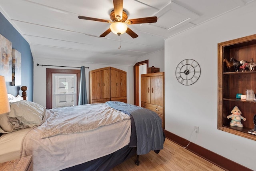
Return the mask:
[(117, 34), (120, 36), (125, 32), (129, 34), (132, 38), (138, 37), (138, 35), (133, 32), (126, 24), (142, 24), (142, 23), (154, 23), (157, 21), (157, 17), (145, 17), (145, 18), (136, 18), (127, 20), (128, 16), (127, 13), (123, 10), (123, 0), (113, 0), (114, 10), (110, 12), (110, 20), (103, 20), (98, 18), (91, 18), (85, 16), (78, 16), (79, 19), (83, 20), (92, 20), (92, 21), (99, 21), (99, 22), (106, 22), (112, 23), (110, 28), (106, 30), (104, 33), (100, 35), (100, 37), (107, 36), (110, 32)]

